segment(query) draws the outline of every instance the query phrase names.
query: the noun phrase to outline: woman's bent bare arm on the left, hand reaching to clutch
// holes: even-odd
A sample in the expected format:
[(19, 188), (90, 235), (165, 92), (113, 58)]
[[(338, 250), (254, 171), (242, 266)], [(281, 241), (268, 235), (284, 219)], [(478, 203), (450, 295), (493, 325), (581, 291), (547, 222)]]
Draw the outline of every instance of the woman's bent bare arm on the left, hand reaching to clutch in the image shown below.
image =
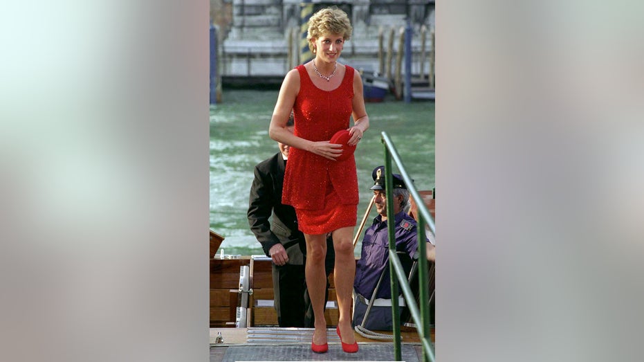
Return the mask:
[(297, 72), (297, 69), (293, 69), (286, 74), (284, 82), (282, 82), (282, 88), (279, 89), (277, 103), (273, 110), (273, 117), (270, 118), (268, 135), (277, 142), (335, 161), (335, 157), (342, 154), (342, 145), (335, 145), (329, 143), (329, 141), (309, 141), (295, 136), (286, 129), (288, 116), (291, 115), (291, 110), (293, 110), (293, 105), (295, 105), (295, 98), (299, 92), (300, 73)]

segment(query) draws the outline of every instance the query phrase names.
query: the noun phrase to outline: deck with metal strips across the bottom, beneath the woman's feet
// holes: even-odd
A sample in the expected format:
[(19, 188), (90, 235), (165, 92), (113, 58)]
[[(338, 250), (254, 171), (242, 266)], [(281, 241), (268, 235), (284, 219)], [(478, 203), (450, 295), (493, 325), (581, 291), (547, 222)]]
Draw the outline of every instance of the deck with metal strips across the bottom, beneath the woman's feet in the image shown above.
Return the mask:
[[(216, 343), (221, 333), (222, 343)], [(391, 334), (391, 332), (383, 332)], [(311, 351), (312, 328), (210, 328), (210, 362), (232, 361), (394, 361), (392, 341), (376, 341), (355, 333), (360, 350), (342, 352), (334, 328), (327, 329), (329, 352)], [(422, 361), (422, 347), (415, 331), (403, 331), (403, 361)], [(432, 329), (434, 341), (434, 329)]]

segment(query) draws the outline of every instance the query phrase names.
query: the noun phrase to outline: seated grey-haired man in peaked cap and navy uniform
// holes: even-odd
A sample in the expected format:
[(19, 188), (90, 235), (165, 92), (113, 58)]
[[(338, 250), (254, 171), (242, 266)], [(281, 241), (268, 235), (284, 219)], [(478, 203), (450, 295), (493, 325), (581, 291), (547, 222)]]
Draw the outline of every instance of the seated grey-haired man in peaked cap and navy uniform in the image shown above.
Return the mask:
[[(385, 167), (380, 166), (371, 175), (374, 179), (374, 203), (378, 216), (373, 224), (365, 231), (362, 239), (362, 253), (356, 264), (356, 280), (353, 290), (356, 295), (353, 306), (353, 326), (362, 325), (369, 300), (375, 298), (369, 316), (363, 327), (371, 330), (392, 330), (392, 296), (389, 284), (389, 232), (387, 231), (387, 198), (385, 196)], [(416, 220), (404, 210), (408, 209), (410, 192), (399, 174), (393, 175), (394, 197), (394, 235), (396, 237), (396, 252), (403, 264), (405, 274), (409, 275), (413, 260), (418, 259), (418, 235)], [(427, 240), (427, 257), (433, 254), (434, 246)], [(429, 250), (432, 252), (429, 252)], [(374, 293), (375, 291), (375, 293)], [(402, 296), (398, 302), (405, 305)]]

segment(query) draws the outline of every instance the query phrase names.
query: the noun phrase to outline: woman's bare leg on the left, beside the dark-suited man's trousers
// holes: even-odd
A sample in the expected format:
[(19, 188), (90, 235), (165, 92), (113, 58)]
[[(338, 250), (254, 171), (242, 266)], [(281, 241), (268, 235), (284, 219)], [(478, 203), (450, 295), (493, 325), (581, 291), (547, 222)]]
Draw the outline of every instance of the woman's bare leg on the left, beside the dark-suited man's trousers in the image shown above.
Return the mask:
[(306, 239), (306, 287), (309, 289), (311, 307), (313, 307), (313, 314), (315, 315), (313, 343), (323, 345), (326, 343), (326, 320), (324, 319), (326, 234), (304, 234), (304, 239)]

